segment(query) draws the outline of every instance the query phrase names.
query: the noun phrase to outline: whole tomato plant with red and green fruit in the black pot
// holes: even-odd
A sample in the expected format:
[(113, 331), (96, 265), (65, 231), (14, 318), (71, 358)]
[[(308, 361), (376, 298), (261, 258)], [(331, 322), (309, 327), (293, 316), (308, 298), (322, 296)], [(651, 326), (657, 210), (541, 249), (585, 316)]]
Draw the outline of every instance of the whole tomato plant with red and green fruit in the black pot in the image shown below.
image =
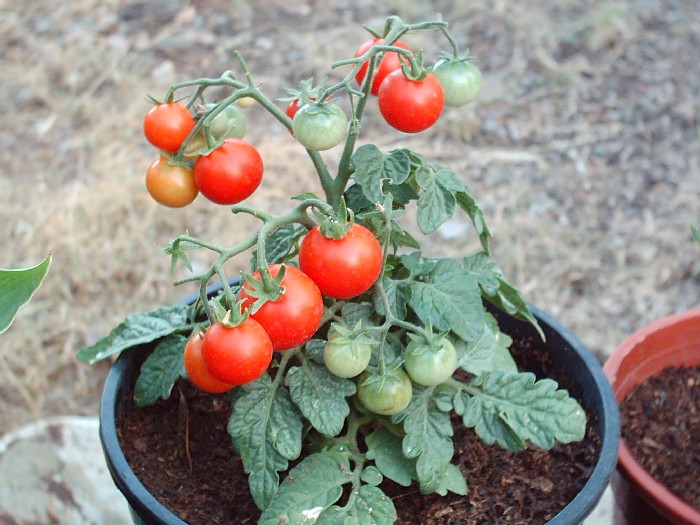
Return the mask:
[[(390, 126), (416, 133), (435, 124), (445, 104), (471, 101), (480, 75), (442, 20), (390, 17), (370, 32), (326, 78), (282, 88), (284, 99), (266, 92), (279, 84), (259, 82), (238, 51), (218, 78), (170, 86), (161, 100), (182, 103), (156, 106), (144, 121), (163, 150), (149, 191), (180, 205), (198, 190), (229, 205), (233, 221), (221, 228), (220, 244), (185, 232), (162, 250), (174, 270), (189, 272), (176, 284), (196, 285), (196, 301), (132, 314), (79, 353), (95, 362), (152, 345), (134, 387), (142, 405), (176, 391), (183, 360), (204, 390), (238, 386), (226, 428), (261, 523), (391, 525), (397, 513), (383, 478), (415, 483), (422, 494), (464, 495), (451, 463), (453, 425), (510, 450), (584, 436), (582, 407), (553, 381), (518, 371), (511, 338), (485, 307), (539, 330), (490, 258), (491, 234), (468, 173), (401, 145), (388, 127), (388, 148), (360, 144), (377, 106)], [(403, 43), (420, 32), (448, 49), (433, 66)], [(238, 108), (253, 104), (251, 123), (291, 127), (317, 175), (308, 186), (305, 174), (284, 167), (268, 175), (278, 190), (269, 210), (241, 202), (263, 175), (260, 153), (241, 138), (247, 126)], [(279, 136), (269, 124), (257, 136)], [(297, 164), (290, 159), (290, 168)], [(278, 198), (285, 191), (291, 200)], [(428, 255), (413, 230), (431, 235), (457, 210), (472, 222), (478, 249)], [(200, 330), (204, 336), (188, 342)], [(457, 366), (464, 373), (454, 373)]]

